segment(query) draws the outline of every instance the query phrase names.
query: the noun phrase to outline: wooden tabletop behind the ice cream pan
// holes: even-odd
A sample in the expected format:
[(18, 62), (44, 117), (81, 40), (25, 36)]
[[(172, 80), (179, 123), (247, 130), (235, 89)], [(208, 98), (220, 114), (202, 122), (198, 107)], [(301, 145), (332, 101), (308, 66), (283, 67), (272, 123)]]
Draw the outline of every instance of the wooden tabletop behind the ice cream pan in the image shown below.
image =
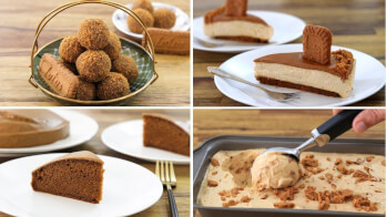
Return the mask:
[[(224, 134), (309, 137), (311, 131), (332, 114), (331, 110), (194, 110), (193, 145), (196, 148), (204, 141)], [(348, 131), (341, 137), (385, 140), (385, 123), (363, 134)]]

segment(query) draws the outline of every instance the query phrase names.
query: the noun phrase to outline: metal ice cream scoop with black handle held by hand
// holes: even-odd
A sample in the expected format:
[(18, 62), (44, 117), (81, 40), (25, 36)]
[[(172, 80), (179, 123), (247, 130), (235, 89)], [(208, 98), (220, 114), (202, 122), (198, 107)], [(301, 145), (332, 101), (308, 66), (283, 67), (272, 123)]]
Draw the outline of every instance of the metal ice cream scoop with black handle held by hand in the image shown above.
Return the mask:
[(262, 153), (262, 155), (268, 153), (281, 153), (294, 157), (299, 162), (301, 153), (305, 149), (318, 145), (323, 147), (328, 142), (335, 140), (337, 136), (342, 135), (346, 131), (352, 128), (353, 120), (363, 110), (345, 110), (331, 117), (328, 121), (323, 123), (317, 128), (314, 128), (311, 132), (312, 137), (304, 142), (302, 145), (295, 148), (288, 147), (271, 147)]

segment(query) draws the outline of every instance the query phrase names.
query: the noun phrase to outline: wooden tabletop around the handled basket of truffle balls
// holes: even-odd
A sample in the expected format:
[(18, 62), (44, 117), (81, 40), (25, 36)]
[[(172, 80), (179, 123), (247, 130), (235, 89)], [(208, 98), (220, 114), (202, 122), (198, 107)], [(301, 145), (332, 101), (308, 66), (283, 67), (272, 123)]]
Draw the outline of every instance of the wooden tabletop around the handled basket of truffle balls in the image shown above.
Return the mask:
[[(129, 3), (129, 0), (113, 0)], [(28, 82), (30, 75), (30, 55), (34, 31), (40, 20), (52, 9), (68, 3), (69, 0), (1, 0), (0, 3), (0, 105), (10, 106), (53, 106), (61, 105), (47, 97)], [(179, 7), (190, 14), (190, 0), (156, 0)], [(70, 8), (54, 17), (43, 29), (39, 44), (54, 39), (75, 34), (81, 21), (87, 18), (100, 18), (111, 31), (120, 37), (112, 23), (115, 8), (102, 4), (82, 4)], [(189, 105), (190, 104), (190, 56), (155, 54), (155, 70), (159, 80), (129, 105)]]

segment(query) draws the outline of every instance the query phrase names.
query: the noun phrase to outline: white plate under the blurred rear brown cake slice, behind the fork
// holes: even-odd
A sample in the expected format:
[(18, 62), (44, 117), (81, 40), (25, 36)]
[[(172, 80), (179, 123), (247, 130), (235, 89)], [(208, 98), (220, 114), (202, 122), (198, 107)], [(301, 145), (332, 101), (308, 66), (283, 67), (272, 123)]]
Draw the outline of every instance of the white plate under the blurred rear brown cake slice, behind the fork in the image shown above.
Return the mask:
[[(176, 122), (186, 132), (189, 131), (189, 124)], [(133, 120), (122, 122), (109, 126), (102, 133), (102, 142), (110, 148), (130, 155), (136, 158), (145, 159), (149, 162), (172, 161), (174, 164), (187, 165), (190, 157), (185, 155), (175, 154), (172, 152), (143, 146), (143, 122), (142, 120)]]

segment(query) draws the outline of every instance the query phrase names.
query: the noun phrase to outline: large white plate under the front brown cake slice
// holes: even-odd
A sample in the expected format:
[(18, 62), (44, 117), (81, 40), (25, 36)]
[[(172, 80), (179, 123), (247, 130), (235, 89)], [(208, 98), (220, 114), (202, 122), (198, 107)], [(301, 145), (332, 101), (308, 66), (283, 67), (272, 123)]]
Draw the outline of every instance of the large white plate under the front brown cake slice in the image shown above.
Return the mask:
[(32, 190), (31, 173), (62, 154), (42, 154), (0, 164), (0, 210), (12, 216), (126, 216), (155, 204), (163, 192), (160, 179), (149, 169), (115, 157), (104, 162), (103, 198), (90, 204)]

